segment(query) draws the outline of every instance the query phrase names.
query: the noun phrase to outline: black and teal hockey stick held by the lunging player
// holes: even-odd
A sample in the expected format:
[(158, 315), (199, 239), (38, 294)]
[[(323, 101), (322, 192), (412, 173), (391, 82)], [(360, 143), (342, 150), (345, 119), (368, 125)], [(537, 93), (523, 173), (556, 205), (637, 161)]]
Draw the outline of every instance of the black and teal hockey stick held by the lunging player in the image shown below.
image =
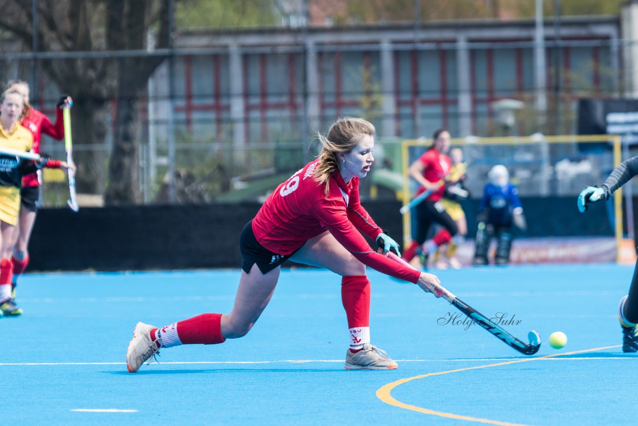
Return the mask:
[[(401, 257), (397, 256), (396, 254), (392, 252), (388, 254), (388, 257), (397, 263), (400, 263), (400, 264), (403, 264), (404, 266), (408, 266), (409, 268), (415, 269), (408, 262), (404, 261), (403, 259), (401, 259)], [(454, 296), (454, 294), (450, 293), (449, 291), (446, 290), (442, 292), (441, 297), (449, 301), (450, 305), (454, 306), (455, 308), (463, 312), (463, 314), (465, 314), (472, 321), (474, 321), (475, 323), (479, 324), (482, 328), (485, 328), (487, 331), (492, 333), (494, 336), (496, 336), (497, 339), (501, 340), (501, 342), (505, 342), (505, 344), (507, 344), (508, 346), (511, 346), (516, 351), (519, 351), (520, 353), (524, 355), (533, 355), (538, 352), (538, 349), (540, 349), (540, 335), (538, 335), (538, 333), (535, 330), (531, 330), (528, 333), (528, 339), (530, 339), (530, 343), (526, 344), (522, 340), (519, 340), (516, 337), (514, 337), (504, 328), (501, 328), (501, 326), (499, 326), (498, 324), (494, 324), (493, 321), (490, 321), (489, 319), (487, 319), (486, 316), (484, 316), (475, 308), (465, 303), (463, 300)]]

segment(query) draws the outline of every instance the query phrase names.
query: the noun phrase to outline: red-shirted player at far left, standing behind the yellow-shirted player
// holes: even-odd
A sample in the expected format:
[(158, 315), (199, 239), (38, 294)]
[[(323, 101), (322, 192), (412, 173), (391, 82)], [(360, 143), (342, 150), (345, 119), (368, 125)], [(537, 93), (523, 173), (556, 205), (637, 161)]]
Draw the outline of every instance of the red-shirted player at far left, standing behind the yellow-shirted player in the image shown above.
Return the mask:
[[(22, 112), (21, 123), (33, 134), (34, 153), (40, 153), (40, 141), (42, 133), (61, 141), (64, 139), (64, 122), (62, 118), (62, 110), (73, 103), (68, 95), (60, 96), (60, 100), (56, 104), (56, 122), (54, 124), (45, 114), (34, 109), (29, 104), (29, 85), (22, 80), (11, 80), (6, 85), (6, 89), (16, 89), (24, 97), (24, 111)], [(75, 170), (75, 165), (68, 165), (64, 161), (50, 160), (45, 167), (51, 169), (62, 169), (65, 173), (69, 167)], [(20, 218), (18, 225), (13, 232), (13, 249), (11, 250), (11, 264), (13, 264), (13, 282), (11, 283), (11, 298), (15, 303), (15, 287), (18, 284), (20, 274), (24, 272), (29, 264), (29, 239), (33, 224), (36, 221), (36, 211), (38, 198), (40, 197), (40, 176), (38, 174), (29, 174), (22, 180), (22, 190), (20, 190)]]

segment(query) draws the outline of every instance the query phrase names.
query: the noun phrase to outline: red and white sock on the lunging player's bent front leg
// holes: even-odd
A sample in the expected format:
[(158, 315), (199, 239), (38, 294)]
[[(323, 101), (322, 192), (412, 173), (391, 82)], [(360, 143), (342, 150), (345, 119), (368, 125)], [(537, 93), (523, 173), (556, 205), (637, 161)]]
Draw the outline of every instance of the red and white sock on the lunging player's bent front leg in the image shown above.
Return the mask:
[(361, 349), (370, 343), (370, 282), (366, 275), (341, 278), (341, 302), (348, 317), (350, 349)]

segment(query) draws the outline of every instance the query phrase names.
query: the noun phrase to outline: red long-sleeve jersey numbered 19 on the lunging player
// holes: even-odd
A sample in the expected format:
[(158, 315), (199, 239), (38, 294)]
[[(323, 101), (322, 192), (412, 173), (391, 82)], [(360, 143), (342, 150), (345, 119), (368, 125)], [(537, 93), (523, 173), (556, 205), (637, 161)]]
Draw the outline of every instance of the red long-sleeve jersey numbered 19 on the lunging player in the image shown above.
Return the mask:
[(357, 231), (376, 240), (383, 231), (359, 201), (359, 178), (345, 183), (338, 172), (330, 176), (329, 194), (315, 181), (318, 160), (281, 183), (253, 219), (259, 243), (277, 254), (291, 254), (309, 238), (330, 231), (354, 257), (370, 268), (417, 282), (420, 272), (377, 253)]

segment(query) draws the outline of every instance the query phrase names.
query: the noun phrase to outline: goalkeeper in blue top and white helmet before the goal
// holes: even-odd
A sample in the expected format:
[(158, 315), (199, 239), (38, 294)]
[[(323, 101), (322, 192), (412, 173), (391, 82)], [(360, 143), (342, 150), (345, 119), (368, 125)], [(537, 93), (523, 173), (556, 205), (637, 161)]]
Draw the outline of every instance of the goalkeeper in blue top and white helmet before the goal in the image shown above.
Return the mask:
[(489, 247), (493, 238), (497, 241), (494, 263), (505, 265), (510, 262), (514, 227), (526, 229), (525, 217), (518, 188), (510, 182), (510, 175), (504, 165), (495, 165), (487, 174), (489, 182), (483, 188), (477, 215), (477, 238), (475, 240), (475, 265), (487, 265)]

